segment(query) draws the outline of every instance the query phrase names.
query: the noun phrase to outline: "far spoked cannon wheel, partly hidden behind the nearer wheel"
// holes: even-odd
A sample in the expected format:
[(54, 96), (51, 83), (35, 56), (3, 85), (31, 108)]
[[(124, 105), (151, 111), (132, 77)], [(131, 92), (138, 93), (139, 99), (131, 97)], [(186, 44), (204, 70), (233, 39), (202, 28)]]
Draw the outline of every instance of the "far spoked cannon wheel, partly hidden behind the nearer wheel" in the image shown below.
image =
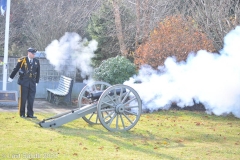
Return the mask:
[[(110, 84), (106, 82), (100, 82), (100, 81), (95, 81), (93, 83), (87, 84), (82, 91), (80, 92), (78, 96), (78, 107), (82, 108), (86, 105), (96, 103), (97, 107), (97, 101), (93, 102), (91, 99), (87, 98), (90, 93), (94, 92), (100, 92), (106, 90)], [(100, 124), (100, 121), (98, 119), (98, 115), (96, 112), (93, 112), (91, 114), (85, 115), (82, 117), (87, 123), (89, 124)]]

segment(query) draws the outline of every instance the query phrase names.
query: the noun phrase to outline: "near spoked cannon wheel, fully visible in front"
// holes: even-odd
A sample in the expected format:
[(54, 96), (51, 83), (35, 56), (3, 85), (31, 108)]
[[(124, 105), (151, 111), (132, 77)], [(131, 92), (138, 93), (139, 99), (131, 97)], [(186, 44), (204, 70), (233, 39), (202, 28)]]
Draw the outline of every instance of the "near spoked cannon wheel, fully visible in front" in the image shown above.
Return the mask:
[(103, 92), (98, 101), (97, 113), (107, 130), (127, 131), (137, 124), (142, 113), (142, 102), (133, 88), (118, 84)]

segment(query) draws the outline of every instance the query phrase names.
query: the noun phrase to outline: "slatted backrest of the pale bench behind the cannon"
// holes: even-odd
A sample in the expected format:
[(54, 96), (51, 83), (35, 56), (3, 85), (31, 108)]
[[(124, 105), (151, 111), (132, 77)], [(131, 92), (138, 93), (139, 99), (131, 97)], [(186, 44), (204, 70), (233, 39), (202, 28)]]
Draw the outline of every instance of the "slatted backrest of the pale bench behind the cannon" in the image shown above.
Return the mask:
[[(61, 76), (57, 90), (61, 91), (62, 93), (68, 94), (72, 92), (73, 80), (66, 76)], [(71, 94), (71, 93), (70, 93)]]

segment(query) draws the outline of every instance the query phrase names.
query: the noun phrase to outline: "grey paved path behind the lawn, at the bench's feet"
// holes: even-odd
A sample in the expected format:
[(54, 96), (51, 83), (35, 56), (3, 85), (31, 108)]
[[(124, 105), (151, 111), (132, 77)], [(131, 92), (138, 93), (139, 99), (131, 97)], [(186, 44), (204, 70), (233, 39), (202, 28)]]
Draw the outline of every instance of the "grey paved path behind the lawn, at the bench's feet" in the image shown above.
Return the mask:
[[(74, 104), (72, 106), (66, 106), (64, 104), (54, 105), (46, 101), (45, 99), (35, 99), (33, 110), (35, 113), (64, 113), (67, 111), (71, 111), (72, 109), (77, 108), (77, 105)], [(15, 105), (1, 105), (0, 112), (18, 112), (18, 106)]]

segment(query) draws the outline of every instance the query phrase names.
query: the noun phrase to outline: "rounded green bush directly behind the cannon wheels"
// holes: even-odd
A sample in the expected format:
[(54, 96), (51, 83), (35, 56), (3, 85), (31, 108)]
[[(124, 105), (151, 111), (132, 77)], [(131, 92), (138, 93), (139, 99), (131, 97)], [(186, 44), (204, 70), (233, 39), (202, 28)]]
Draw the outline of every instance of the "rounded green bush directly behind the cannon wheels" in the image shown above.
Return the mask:
[(134, 74), (136, 74), (135, 65), (123, 56), (116, 56), (103, 61), (94, 70), (93, 78), (114, 85), (122, 84)]

